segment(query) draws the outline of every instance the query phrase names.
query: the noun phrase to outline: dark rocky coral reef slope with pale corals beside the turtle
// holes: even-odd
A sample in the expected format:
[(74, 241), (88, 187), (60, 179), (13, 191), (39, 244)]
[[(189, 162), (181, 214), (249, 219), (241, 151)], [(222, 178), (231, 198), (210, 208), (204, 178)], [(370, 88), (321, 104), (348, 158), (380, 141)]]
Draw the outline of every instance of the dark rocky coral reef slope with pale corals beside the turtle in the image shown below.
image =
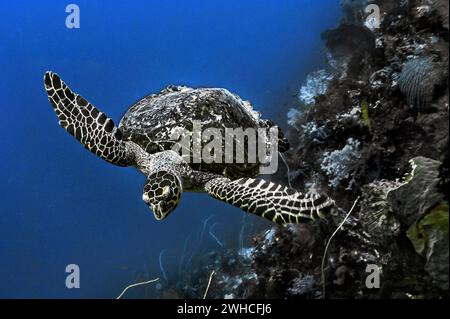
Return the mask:
[[(368, 4), (379, 28), (366, 25)], [(322, 34), (329, 67), (287, 116), (298, 143), (286, 158), (295, 188), (340, 209), (249, 247), (218, 245), (171, 288), (178, 297), (200, 297), (214, 270), (209, 298), (448, 298), (448, 1), (342, 5), (342, 23)]]

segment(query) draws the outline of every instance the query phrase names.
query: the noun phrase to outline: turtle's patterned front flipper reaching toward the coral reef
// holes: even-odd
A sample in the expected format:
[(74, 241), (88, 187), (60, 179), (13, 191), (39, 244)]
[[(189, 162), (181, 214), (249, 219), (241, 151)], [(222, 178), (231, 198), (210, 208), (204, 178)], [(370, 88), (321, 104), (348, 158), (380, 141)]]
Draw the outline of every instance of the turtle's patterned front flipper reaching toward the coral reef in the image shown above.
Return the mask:
[(205, 190), (216, 199), (278, 224), (322, 218), (334, 206), (334, 201), (327, 196), (302, 194), (262, 179), (231, 181), (218, 177), (208, 181)]

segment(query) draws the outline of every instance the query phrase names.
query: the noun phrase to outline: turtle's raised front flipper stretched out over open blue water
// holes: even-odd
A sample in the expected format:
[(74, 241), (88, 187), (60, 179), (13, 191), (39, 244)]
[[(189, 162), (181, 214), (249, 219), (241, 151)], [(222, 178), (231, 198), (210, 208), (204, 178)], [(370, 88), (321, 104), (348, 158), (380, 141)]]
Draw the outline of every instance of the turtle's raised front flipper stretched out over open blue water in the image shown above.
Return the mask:
[(110, 118), (72, 92), (57, 74), (46, 72), (44, 83), (61, 127), (102, 159), (118, 166), (133, 164), (134, 153)]

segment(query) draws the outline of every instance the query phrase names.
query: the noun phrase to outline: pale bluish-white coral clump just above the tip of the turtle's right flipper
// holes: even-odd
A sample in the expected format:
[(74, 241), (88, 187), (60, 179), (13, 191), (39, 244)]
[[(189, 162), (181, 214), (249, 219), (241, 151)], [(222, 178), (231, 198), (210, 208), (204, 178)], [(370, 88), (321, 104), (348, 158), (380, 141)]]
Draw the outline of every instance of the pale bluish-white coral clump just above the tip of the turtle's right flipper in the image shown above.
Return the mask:
[[(361, 157), (360, 147), (358, 140), (349, 138), (343, 149), (324, 153), (320, 167), (329, 177), (330, 187), (336, 188), (342, 181), (350, 178)], [(352, 183), (352, 180), (348, 183), (348, 189), (351, 189)]]

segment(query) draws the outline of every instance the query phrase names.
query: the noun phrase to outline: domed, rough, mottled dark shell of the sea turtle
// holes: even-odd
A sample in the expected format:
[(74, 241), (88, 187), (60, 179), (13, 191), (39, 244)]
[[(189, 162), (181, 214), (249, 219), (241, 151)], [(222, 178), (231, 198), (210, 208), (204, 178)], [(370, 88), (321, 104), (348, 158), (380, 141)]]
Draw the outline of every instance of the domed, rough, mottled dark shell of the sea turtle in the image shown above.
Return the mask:
[[(196, 138), (198, 135), (192, 135), (194, 121), (201, 124), (202, 132), (205, 129), (220, 130), (222, 154), (225, 154), (225, 128), (245, 130), (263, 126), (259, 113), (252, 110), (249, 102), (225, 89), (170, 86), (159, 94), (149, 95), (132, 105), (122, 117), (119, 129), (124, 139), (135, 142), (146, 152), (153, 154), (173, 149), (177, 143), (174, 140), (177, 133), (189, 132), (189, 138)], [(211, 139), (200, 141), (202, 150)], [(258, 162), (246, 163), (246, 147), (245, 163), (225, 164), (224, 160), (222, 163), (205, 163), (203, 160), (193, 163), (192, 145), (188, 162), (193, 169), (233, 178), (258, 174)]]

